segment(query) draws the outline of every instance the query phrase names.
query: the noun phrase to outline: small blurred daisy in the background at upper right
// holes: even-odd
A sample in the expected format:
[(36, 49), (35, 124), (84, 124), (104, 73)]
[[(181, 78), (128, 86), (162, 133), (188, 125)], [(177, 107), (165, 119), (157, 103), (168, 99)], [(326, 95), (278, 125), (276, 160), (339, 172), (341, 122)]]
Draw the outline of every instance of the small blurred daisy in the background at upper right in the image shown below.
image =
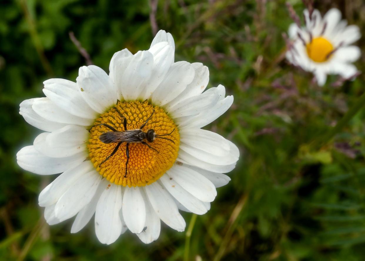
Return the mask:
[(341, 12), (330, 9), (321, 17), (318, 10), (312, 14), (304, 10), (306, 26), (297, 24), (289, 27), (292, 45), (286, 57), (290, 63), (314, 73), (318, 85), (326, 82), (328, 74), (339, 74), (345, 79), (353, 77), (357, 69), (352, 62), (360, 58), (360, 48), (350, 46), (361, 34), (357, 26), (347, 26), (341, 21)]

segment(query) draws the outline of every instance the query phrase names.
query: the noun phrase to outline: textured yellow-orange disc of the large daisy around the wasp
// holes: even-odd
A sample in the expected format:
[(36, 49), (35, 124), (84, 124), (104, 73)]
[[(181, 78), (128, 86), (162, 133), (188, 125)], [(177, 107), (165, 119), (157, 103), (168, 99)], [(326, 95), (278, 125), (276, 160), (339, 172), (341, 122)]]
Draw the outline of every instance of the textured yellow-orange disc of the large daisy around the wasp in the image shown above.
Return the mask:
[(152, 142), (143, 139), (152, 148), (141, 142), (130, 142), (128, 145), (127, 175), (125, 175), (127, 162), (126, 141), (120, 144), (113, 156), (102, 163), (112, 154), (119, 141), (103, 143), (99, 136), (105, 132), (112, 132), (112, 130), (104, 125), (96, 125), (108, 124), (118, 132), (126, 131), (123, 127), (123, 118), (112, 108), (101, 114), (100, 118), (95, 121), (95, 126), (90, 130), (88, 143), (90, 160), (100, 175), (117, 185), (139, 187), (151, 184), (164, 175), (177, 158), (180, 144), (177, 126), (162, 108), (148, 104), (147, 101), (118, 102), (115, 107), (122, 116), (126, 117), (127, 131), (139, 130), (155, 110), (142, 131), (146, 133), (149, 129), (153, 129), (156, 135), (164, 135), (175, 129), (170, 135), (163, 137), (174, 142), (157, 138), (158, 136)]

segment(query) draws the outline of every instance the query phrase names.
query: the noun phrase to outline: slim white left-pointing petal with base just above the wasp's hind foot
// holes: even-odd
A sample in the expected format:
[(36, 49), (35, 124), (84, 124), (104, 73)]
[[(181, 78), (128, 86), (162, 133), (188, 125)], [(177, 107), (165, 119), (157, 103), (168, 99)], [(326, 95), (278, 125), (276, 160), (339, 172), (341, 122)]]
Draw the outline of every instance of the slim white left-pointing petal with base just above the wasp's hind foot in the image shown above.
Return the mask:
[(89, 126), (93, 124), (93, 120), (72, 115), (56, 106), (48, 98), (39, 98), (35, 100), (33, 102), (32, 108), (35, 113), (49, 121), (83, 126)]

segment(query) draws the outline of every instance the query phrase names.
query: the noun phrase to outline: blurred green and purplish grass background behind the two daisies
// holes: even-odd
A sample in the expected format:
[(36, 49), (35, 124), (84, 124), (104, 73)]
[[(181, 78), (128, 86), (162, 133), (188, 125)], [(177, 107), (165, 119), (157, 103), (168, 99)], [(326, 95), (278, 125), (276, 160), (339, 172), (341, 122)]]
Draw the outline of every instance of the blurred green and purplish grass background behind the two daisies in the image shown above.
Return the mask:
[[(304, 4), (289, 2), (301, 15)], [(339, 8), (364, 34), (364, 1), (314, 6)], [(0, 260), (364, 260), (365, 112), (357, 105), (365, 75), (343, 84), (331, 76), (320, 88), (290, 66), (285, 1), (3, 0), (0, 17)], [(172, 33), (175, 61), (204, 63), (208, 87), (221, 83), (234, 95), (205, 127), (241, 151), (231, 182), (197, 216), (191, 237), (191, 213), (183, 213), (185, 232), (163, 225), (149, 245), (131, 233), (102, 245), (93, 222), (77, 234), (70, 221), (48, 226), (37, 199), (54, 176), (16, 164), (40, 132), (19, 115), (20, 102), (43, 97), (46, 79), (76, 79), (85, 59), (70, 31), (108, 71), (114, 52), (148, 49), (157, 29)], [(365, 38), (356, 44), (364, 54)]]

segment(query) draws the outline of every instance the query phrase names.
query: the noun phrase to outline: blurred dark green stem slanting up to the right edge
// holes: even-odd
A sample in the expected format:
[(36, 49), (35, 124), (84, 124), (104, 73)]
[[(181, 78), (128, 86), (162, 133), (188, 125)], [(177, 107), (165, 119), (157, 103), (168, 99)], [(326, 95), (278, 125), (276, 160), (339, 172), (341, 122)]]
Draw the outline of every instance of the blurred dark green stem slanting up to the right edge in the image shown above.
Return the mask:
[(332, 128), (326, 135), (322, 136), (321, 139), (314, 141), (314, 148), (320, 148), (327, 144), (332, 138), (340, 132), (343, 127), (355, 116), (356, 113), (365, 105), (365, 92), (355, 102), (355, 104), (346, 112), (342, 119)]

